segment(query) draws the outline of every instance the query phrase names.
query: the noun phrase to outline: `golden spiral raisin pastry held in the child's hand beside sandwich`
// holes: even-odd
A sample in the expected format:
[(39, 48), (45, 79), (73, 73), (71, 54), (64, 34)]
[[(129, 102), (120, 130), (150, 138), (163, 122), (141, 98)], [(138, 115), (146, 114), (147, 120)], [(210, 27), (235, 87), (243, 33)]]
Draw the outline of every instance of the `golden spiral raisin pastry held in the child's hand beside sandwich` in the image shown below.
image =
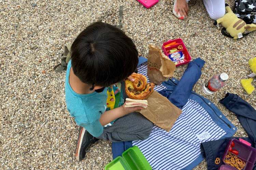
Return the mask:
[(130, 99), (144, 100), (153, 92), (154, 83), (147, 83), (147, 78), (142, 74), (132, 74), (134, 82), (125, 80), (125, 92)]

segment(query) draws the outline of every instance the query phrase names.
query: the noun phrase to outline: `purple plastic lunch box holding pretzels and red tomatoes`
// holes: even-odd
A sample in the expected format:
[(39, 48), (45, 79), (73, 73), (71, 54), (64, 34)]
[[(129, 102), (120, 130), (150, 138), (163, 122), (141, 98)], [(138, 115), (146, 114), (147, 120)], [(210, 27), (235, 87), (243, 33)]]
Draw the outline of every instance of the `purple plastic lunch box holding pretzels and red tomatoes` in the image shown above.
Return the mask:
[[(234, 155), (232, 152), (228, 151), (228, 148), (231, 146), (231, 142), (234, 142), (234, 147), (232, 149), (238, 151), (238, 155)], [(252, 170), (254, 163), (256, 161), (256, 149), (253, 147), (250, 147), (243, 142), (237, 140), (237, 139), (230, 139), (229, 143), (227, 145), (227, 148), (223, 154), (222, 161), (224, 162), (227, 153), (230, 153), (231, 155), (237, 156), (239, 159), (245, 162), (245, 166), (243, 167), (243, 170)], [(224, 162), (225, 164), (225, 162)], [(222, 165), (218, 168), (218, 170), (237, 170), (237, 168), (232, 167), (229, 164)]]

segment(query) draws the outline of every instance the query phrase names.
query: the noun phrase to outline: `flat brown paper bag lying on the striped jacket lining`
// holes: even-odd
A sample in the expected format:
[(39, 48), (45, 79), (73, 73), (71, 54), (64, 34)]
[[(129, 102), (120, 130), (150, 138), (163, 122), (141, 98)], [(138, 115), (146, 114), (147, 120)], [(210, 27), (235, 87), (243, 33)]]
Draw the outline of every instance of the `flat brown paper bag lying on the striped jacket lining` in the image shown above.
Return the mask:
[(148, 120), (169, 132), (182, 113), (182, 110), (177, 108), (166, 97), (155, 90), (150, 97), (148, 97), (147, 101), (147, 108), (144, 108), (139, 112)]

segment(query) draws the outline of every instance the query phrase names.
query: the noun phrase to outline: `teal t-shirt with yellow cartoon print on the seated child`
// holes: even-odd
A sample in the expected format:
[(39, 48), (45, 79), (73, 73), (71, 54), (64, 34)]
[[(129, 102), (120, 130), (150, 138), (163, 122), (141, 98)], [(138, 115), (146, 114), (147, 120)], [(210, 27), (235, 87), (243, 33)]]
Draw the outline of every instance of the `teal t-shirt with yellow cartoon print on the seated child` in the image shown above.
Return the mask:
[[(122, 88), (118, 88), (119, 85), (117, 84), (105, 88), (101, 93), (93, 92), (84, 95), (77, 94), (69, 84), (70, 68), (71, 60), (67, 66), (65, 81), (65, 95), (68, 112), (75, 118), (77, 125), (84, 127), (94, 137), (98, 137), (103, 133), (103, 126), (99, 121), (101, 114), (106, 110), (123, 105)], [(118, 101), (116, 99), (118, 99)], [(105, 126), (112, 125), (113, 122), (114, 121)]]

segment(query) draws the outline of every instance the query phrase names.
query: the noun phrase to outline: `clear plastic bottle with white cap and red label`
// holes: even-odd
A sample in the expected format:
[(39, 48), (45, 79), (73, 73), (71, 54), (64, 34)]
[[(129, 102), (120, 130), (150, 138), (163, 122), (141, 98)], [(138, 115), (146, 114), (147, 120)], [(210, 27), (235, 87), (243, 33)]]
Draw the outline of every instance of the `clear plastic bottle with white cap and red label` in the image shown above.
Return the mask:
[(203, 86), (203, 92), (207, 95), (212, 95), (215, 91), (225, 86), (227, 84), (227, 81), (228, 74), (215, 74), (207, 83), (205, 83), (205, 85)]

